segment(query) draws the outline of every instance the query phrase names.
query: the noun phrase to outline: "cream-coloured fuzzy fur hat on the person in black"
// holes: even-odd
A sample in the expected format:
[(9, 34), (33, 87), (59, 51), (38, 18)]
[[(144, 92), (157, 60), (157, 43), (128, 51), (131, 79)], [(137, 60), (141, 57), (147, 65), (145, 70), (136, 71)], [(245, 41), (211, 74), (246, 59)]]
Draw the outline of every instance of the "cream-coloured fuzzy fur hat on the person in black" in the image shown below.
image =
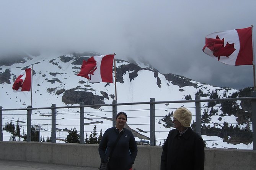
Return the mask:
[(192, 114), (191, 112), (186, 109), (185, 107), (179, 107), (174, 111), (173, 117), (177, 119), (182, 126), (189, 127), (191, 120), (192, 120)]

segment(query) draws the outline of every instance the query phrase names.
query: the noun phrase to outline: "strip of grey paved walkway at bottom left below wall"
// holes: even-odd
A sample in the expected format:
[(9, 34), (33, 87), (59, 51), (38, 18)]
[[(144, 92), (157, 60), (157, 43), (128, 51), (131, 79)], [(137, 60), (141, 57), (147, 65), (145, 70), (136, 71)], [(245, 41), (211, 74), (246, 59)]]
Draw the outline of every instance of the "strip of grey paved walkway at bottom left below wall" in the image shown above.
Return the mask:
[(98, 170), (98, 168), (71, 165), (44, 164), (37, 162), (0, 160), (0, 170)]

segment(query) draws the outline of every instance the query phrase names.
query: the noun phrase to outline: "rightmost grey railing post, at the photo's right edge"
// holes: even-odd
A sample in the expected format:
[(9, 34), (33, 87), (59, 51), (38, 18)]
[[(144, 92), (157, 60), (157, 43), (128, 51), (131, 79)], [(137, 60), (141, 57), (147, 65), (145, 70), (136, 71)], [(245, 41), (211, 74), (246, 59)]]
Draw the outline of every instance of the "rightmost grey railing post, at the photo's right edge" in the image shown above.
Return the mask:
[[(251, 96), (256, 96), (256, 91), (251, 92)], [(253, 150), (256, 150), (256, 100), (251, 100), (251, 117), (253, 122)]]

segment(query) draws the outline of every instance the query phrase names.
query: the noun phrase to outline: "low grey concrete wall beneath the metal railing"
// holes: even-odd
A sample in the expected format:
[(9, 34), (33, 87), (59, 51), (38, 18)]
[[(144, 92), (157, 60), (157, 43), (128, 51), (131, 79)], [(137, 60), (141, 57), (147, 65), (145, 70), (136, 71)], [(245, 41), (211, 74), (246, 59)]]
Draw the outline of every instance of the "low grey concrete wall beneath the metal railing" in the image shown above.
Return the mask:
[[(161, 146), (138, 146), (136, 170), (159, 170)], [(0, 141), (0, 159), (99, 167), (98, 144)], [(256, 151), (205, 148), (205, 170), (254, 170)]]

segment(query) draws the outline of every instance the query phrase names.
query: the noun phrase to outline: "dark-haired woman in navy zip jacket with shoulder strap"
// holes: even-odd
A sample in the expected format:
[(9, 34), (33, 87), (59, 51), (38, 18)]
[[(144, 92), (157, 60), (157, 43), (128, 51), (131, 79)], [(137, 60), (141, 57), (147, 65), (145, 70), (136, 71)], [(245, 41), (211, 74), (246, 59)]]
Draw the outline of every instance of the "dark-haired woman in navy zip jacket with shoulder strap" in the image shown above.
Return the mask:
[(132, 132), (124, 128), (126, 122), (126, 113), (119, 112), (116, 126), (107, 129), (99, 143), (99, 156), (108, 162), (108, 170), (132, 170), (138, 148)]

